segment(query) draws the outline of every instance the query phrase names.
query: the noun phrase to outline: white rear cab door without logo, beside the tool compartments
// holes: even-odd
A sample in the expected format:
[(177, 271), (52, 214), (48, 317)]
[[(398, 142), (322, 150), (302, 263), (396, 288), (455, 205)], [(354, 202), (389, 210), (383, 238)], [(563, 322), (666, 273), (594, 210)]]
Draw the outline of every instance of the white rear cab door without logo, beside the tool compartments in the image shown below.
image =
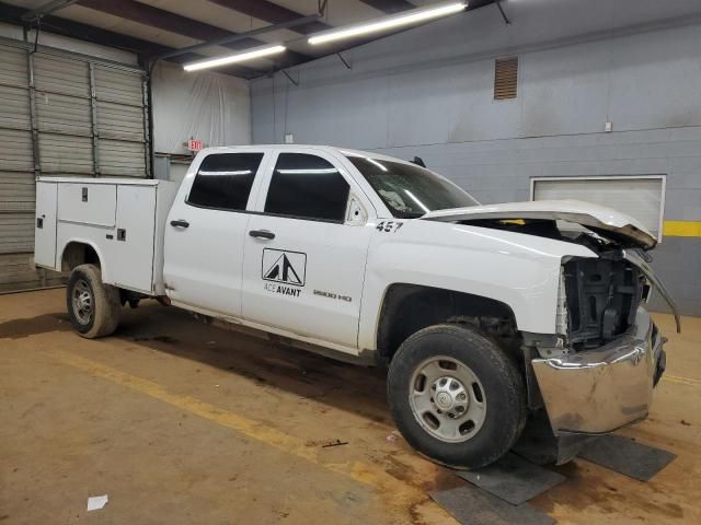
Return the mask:
[(246, 208), (265, 156), (246, 149), (194, 161), (165, 224), (163, 280), (174, 304), (241, 317)]

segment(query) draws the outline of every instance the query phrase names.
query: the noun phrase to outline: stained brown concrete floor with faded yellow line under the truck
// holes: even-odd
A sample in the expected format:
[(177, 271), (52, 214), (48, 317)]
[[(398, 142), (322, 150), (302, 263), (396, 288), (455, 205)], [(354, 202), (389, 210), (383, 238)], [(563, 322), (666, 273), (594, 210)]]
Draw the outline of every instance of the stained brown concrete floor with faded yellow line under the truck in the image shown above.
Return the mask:
[[(462, 481), (398, 438), (381, 371), (152, 302), (89, 341), (65, 311), (64, 290), (0, 296), (2, 525), (455, 523), (427, 494)], [(559, 523), (701, 523), (701, 319), (656, 319), (668, 373), (623, 433), (679, 457), (648, 483), (560, 467), (532, 502)]]

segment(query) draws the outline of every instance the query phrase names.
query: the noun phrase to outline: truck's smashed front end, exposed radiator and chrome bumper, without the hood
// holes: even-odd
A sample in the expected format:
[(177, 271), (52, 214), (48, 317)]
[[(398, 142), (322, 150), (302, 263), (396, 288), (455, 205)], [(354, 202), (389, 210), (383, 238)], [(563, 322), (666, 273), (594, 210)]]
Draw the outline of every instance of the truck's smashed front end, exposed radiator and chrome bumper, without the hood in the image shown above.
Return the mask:
[(587, 438), (647, 417), (666, 363), (665, 339), (643, 306), (651, 284), (668, 299), (636, 252), (572, 258), (562, 266), (558, 335), (524, 335), (529, 400), (545, 409), (558, 463)]

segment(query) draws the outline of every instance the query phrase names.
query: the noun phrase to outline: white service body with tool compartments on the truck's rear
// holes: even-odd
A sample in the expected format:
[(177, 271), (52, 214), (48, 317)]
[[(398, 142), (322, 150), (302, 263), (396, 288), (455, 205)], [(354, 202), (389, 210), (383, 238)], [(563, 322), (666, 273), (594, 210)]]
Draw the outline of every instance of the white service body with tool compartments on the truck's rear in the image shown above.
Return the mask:
[[(89, 245), (105, 283), (149, 295), (164, 293), (161, 223), (176, 189), (165, 180), (39, 177), (37, 265), (61, 270), (71, 245)], [(51, 210), (57, 218), (53, 230)]]

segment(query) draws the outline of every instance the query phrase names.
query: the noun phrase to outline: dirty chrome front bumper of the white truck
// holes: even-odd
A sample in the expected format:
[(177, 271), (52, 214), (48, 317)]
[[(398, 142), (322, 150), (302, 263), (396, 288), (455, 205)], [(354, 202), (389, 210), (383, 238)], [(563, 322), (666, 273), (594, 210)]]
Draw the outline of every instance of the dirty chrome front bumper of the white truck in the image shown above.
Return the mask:
[(555, 435), (600, 434), (647, 417), (665, 366), (663, 339), (650, 314), (595, 350), (531, 361)]

